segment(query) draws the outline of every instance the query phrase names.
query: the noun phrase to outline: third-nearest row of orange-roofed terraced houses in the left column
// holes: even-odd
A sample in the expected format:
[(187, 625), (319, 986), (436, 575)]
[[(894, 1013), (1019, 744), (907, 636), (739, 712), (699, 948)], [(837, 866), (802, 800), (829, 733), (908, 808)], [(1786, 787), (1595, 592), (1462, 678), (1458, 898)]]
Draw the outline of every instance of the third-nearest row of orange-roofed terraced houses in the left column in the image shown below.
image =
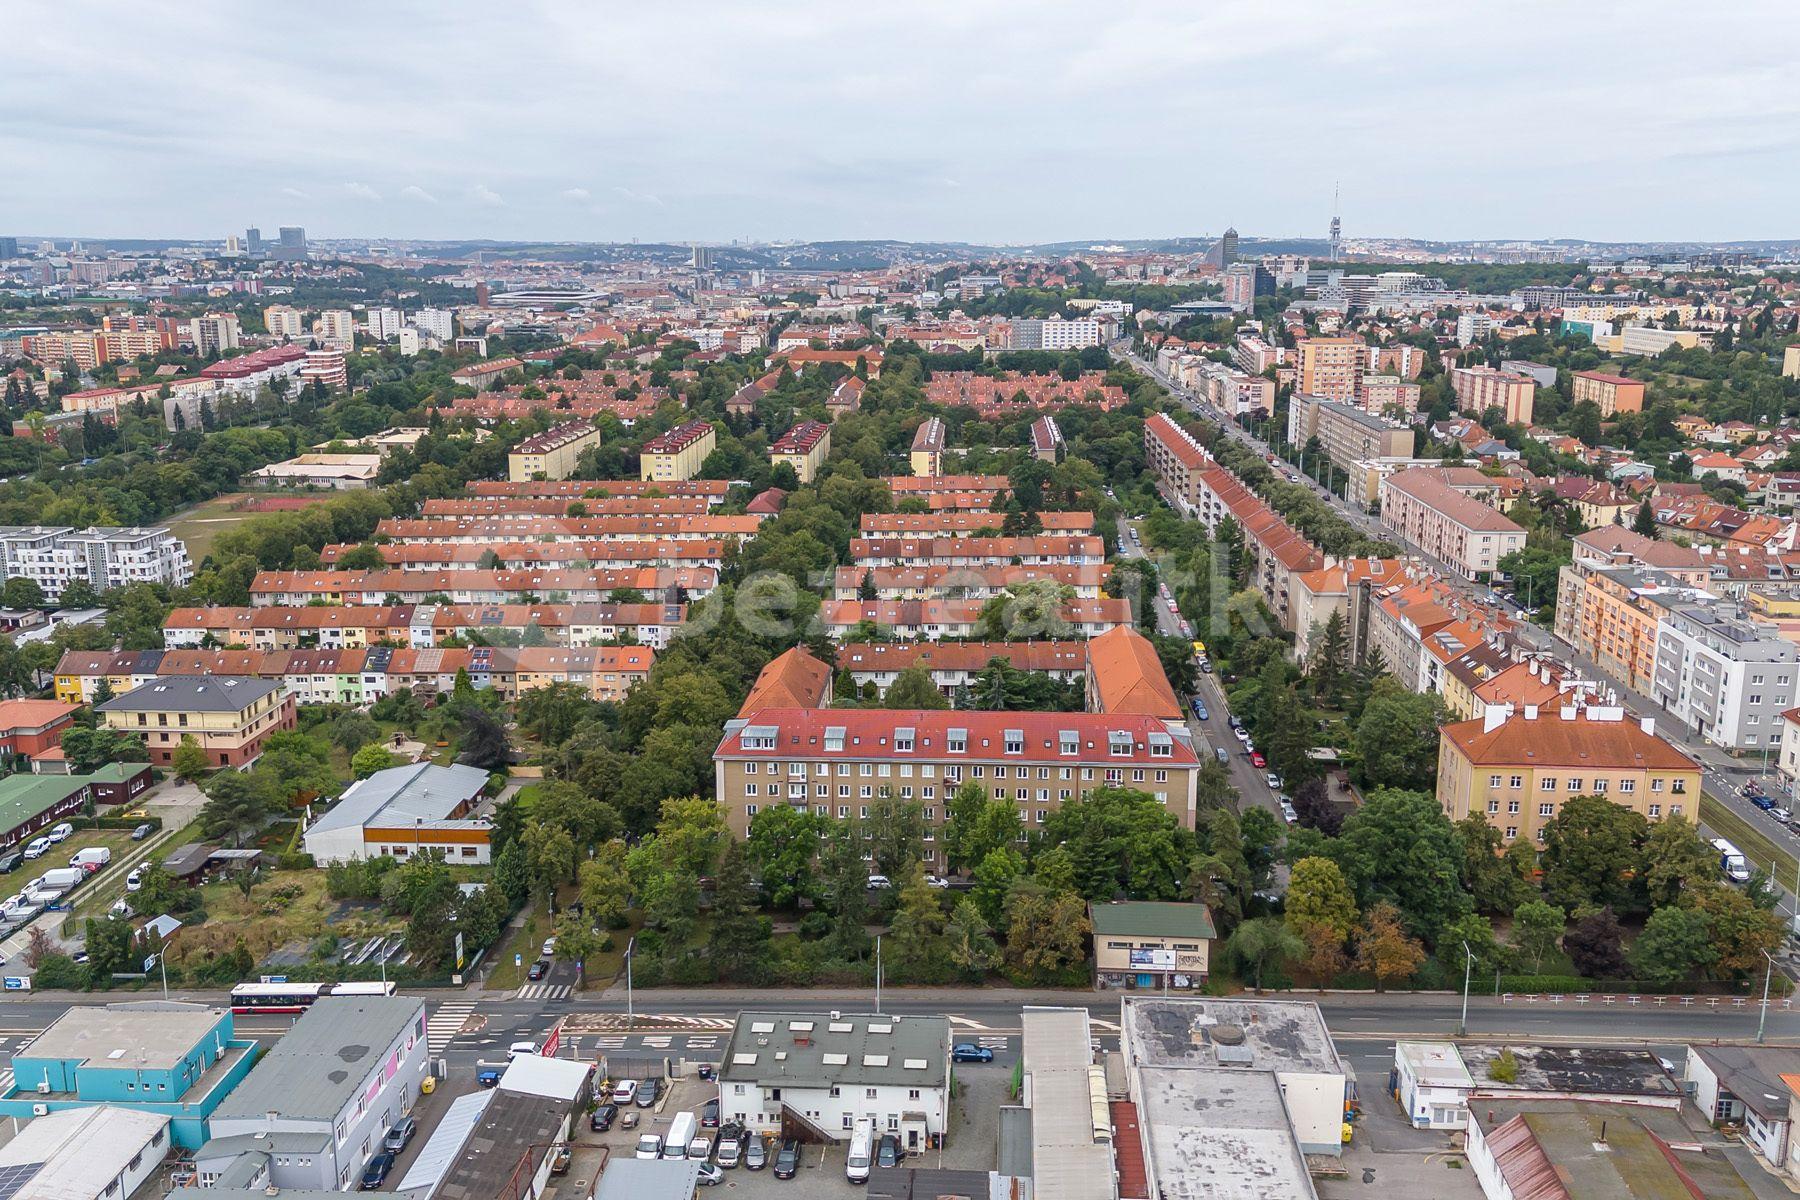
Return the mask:
[(718, 587), (711, 567), (619, 567), (612, 570), (259, 570), (256, 604), (524, 604), (610, 601), (639, 592), (666, 603), (702, 599)]

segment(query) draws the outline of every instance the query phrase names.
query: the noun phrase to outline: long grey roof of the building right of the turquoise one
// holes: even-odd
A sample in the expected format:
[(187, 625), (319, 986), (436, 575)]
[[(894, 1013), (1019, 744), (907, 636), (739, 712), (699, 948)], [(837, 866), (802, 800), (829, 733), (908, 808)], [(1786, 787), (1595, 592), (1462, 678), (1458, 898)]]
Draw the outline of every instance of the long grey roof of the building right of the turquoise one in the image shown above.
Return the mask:
[(405, 1027), (425, 1016), (418, 997), (324, 997), (293, 1022), (243, 1083), (212, 1112), (212, 1121), (329, 1121)]

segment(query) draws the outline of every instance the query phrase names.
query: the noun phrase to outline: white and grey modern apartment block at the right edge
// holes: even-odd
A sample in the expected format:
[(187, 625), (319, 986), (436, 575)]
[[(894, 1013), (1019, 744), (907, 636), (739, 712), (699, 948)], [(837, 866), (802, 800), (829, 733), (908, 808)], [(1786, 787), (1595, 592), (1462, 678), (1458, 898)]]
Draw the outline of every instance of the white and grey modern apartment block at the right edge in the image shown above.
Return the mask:
[(1656, 622), (1651, 696), (1717, 747), (1778, 752), (1796, 680), (1800, 646), (1773, 624), (1701, 604), (1670, 608)]

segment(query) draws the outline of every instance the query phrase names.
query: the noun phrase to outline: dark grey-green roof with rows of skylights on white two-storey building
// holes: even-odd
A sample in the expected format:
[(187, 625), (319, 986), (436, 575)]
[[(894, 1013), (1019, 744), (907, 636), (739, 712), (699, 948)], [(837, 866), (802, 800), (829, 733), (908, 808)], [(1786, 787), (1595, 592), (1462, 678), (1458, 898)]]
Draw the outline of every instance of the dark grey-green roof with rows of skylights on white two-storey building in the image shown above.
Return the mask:
[(718, 1078), (774, 1087), (943, 1087), (945, 1016), (740, 1013)]

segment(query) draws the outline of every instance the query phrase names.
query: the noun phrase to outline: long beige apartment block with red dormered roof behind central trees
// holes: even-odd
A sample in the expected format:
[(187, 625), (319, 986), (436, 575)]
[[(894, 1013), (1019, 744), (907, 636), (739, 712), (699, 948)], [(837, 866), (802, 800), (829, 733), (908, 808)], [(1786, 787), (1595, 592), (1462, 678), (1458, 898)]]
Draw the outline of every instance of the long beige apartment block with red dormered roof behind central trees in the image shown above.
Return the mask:
[(1028, 829), (1098, 788), (1148, 792), (1192, 829), (1199, 757), (1156, 716), (760, 709), (725, 723), (713, 766), (740, 838), (769, 806), (850, 820), (886, 793), (922, 804), (923, 858), (941, 867), (940, 833), (965, 783), (1017, 804)]

